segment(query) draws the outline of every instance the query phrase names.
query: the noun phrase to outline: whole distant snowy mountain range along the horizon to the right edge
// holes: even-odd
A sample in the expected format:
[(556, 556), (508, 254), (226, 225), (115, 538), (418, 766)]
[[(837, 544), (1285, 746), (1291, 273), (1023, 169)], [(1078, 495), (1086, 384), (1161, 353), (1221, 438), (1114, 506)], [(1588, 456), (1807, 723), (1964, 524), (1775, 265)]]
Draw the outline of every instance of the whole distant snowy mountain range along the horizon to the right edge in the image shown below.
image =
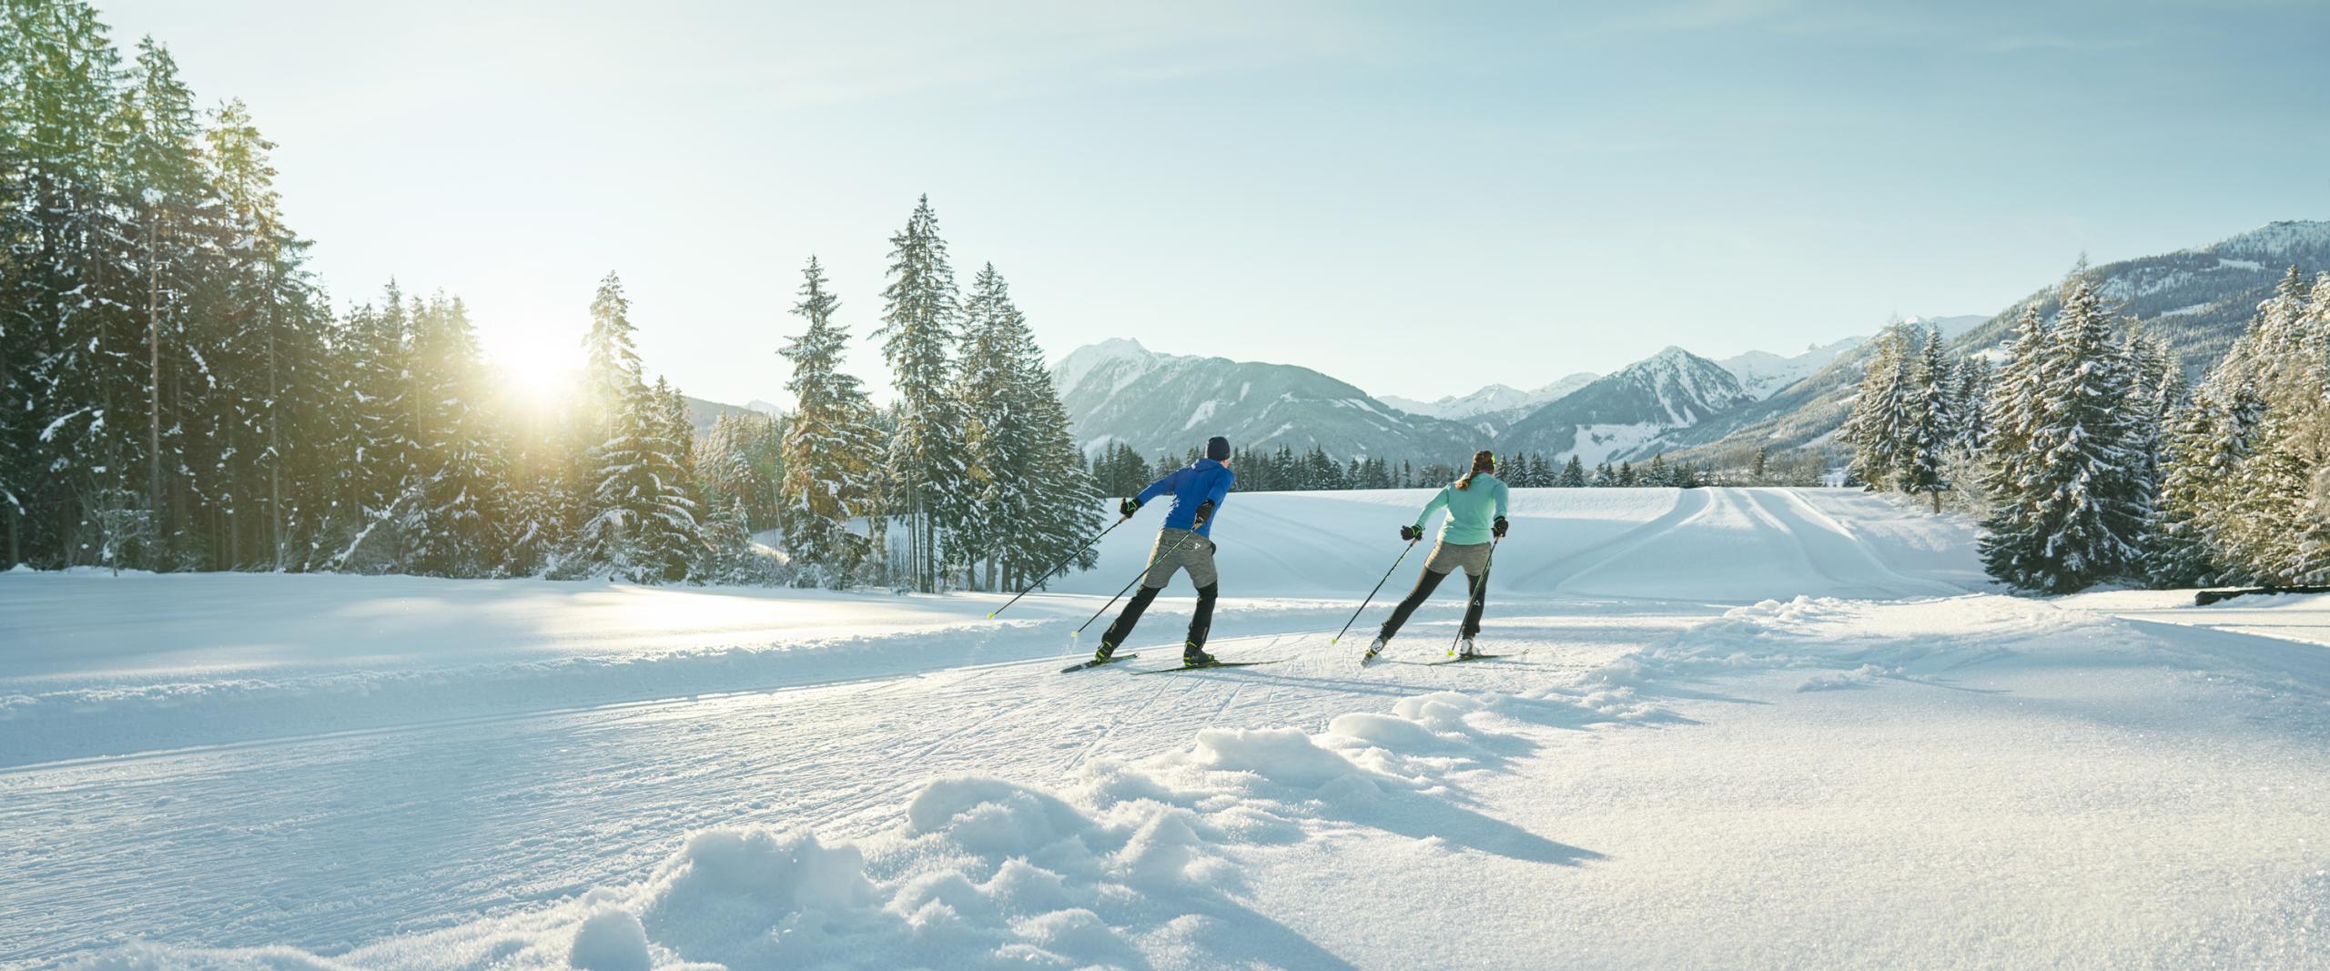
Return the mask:
[[(2330, 270), (2330, 224), (2281, 221), (2085, 272), (2197, 373), (2241, 333), (2288, 265)], [(1990, 317), (1906, 324), (1939, 328), (1955, 354), (1974, 354), (1999, 347), (2025, 305), (2055, 312), (2055, 291), (2050, 282)], [(1184, 452), (1200, 435), (1230, 435), (1256, 447), (1319, 445), (1337, 459), (1454, 463), (1475, 447), (1496, 447), (1577, 454), (1587, 463), (1664, 452), (1736, 466), (1757, 447), (1827, 445), (1859, 387), (1869, 338), (1722, 361), (1668, 347), (1612, 375), (1568, 375), (1535, 391), (1489, 384), (1440, 401), (1375, 398), (1309, 368), (1156, 354), (1135, 340), (1072, 352), (1053, 382), (1086, 449), (1128, 442), (1142, 454)]]

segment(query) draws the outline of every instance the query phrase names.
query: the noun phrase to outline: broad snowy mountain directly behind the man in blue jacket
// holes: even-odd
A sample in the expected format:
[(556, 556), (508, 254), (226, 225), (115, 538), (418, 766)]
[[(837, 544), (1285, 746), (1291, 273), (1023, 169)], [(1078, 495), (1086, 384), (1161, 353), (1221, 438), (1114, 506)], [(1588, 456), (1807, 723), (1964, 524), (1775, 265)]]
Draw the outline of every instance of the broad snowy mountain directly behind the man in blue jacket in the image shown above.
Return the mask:
[(1156, 354), (1137, 340), (1079, 347), (1051, 370), (1086, 452), (1125, 442), (1181, 454), (1207, 435), (1235, 447), (1323, 447), (1337, 459), (1459, 461), (1475, 428), (1391, 407), (1309, 368)]

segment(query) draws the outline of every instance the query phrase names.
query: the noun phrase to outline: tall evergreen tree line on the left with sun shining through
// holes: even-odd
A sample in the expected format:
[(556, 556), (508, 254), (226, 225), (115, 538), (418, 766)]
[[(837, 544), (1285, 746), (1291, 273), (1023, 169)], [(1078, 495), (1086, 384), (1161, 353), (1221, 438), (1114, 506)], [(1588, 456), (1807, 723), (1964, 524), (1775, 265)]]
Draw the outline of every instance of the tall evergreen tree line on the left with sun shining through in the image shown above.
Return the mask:
[(550, 414), (494, 391), (454, 296), (391, 282), (336, 312), (273, 149), (240, 102), (200, 109), (163, 44), (123, 58), (86, 2), (0, 5), (9, 564), (995, 587), (1097, 517), (1002, 275), (958, 296), (927, 200), (883, 291), (902, 398), (839, 370), (811, 258), (781, 352), (799, 407), (699, 440), (615, 275)]

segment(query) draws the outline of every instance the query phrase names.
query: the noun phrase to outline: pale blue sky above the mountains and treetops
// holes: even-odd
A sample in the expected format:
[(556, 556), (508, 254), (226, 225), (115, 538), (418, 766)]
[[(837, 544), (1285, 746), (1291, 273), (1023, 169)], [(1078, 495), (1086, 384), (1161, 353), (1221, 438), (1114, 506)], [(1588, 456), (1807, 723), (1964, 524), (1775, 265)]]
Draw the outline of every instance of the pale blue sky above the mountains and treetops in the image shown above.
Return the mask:
[(252, 105), (343, 303), (447, 289), (555, 361), (613, 268), (650, 370), (739, 403), (778, 398), (811, 251), (874, 331), (923, 191), (1053, 356), (1421, 398), (2330, 219), (2307, 0), (98, 2)]

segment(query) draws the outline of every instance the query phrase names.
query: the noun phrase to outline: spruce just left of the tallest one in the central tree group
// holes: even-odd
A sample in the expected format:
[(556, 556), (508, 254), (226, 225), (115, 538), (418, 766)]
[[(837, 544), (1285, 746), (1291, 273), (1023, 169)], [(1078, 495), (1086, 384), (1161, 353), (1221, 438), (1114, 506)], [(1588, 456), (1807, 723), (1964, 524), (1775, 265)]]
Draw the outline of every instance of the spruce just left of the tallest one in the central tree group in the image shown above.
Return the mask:
[(825, 268), (811, 256), (802, 270), (802, 303), (792, 305), (809, 328), (778, 352), (792, 361), (785, 391), (795, 401), (785, 424), (778, 529), (795, 582), (827, 587), (846, 587), (867, 559), (864, 536), (848, 524), (874, 512), (883, 456), (874, 405), (857, 377), (841, 370), (850, 333), (834, 321), (839, 307), (841, 300), (825, 291)]

